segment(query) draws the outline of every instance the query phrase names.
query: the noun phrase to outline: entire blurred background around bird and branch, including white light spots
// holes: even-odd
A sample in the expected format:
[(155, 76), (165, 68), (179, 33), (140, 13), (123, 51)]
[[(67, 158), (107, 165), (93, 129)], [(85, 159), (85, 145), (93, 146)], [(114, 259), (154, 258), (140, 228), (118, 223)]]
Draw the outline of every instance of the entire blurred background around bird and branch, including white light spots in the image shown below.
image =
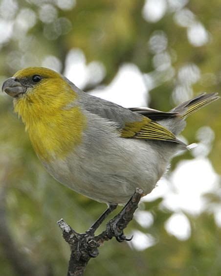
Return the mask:
[[(0, 84), (29, 66), (125, 107), (168, 111), (221, 91), (221, 2), (0, 0)], [(221, 101), (188, 118), (180, 138), (198, 146), (143, 199), (132, 242), (108, 242), (86, 276), (221, 275)], [(56, 221), (83, 232), (105, 208), (47, 174), (0, 93), (0, 275), (66, 275)]]

